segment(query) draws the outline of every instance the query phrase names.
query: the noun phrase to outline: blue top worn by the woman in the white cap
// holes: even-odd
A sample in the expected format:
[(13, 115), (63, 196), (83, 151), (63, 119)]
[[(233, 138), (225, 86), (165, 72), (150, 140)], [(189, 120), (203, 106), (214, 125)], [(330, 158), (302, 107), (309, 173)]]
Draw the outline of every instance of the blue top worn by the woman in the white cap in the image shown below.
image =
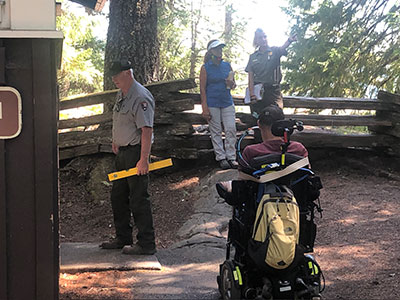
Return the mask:
[(211, 60), (204, 64), (207, 73), (206, 96), (209, 107), (228, 107), (233, 105), (231, 90), (226, 88), (225, 79), (231, 71), (228, 62), (221, 61), (219, 65)]

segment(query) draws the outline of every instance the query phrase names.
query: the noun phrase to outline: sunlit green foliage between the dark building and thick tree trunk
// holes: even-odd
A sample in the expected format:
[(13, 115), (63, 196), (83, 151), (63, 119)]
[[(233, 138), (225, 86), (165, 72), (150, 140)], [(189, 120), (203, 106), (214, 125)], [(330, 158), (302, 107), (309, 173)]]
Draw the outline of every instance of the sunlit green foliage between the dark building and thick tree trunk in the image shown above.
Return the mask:
[(97, 38), (94, 17), (78, 16), (63, 3), (57, 29), (64, 33), (61, 70), (58, 72), (60, 97), (102, 90), (105, 41)]

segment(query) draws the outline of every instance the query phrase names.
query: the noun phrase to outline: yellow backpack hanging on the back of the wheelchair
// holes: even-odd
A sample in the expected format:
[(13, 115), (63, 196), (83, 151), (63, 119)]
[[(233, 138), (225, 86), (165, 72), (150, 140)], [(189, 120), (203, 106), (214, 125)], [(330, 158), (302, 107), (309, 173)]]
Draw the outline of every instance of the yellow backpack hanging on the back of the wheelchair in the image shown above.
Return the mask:
[(263, 185), (249, 241), (249, 255), (260, 267), (267, 264), (285, 269), (293, 262), (299, 242), (299, 206), (288, 187)]

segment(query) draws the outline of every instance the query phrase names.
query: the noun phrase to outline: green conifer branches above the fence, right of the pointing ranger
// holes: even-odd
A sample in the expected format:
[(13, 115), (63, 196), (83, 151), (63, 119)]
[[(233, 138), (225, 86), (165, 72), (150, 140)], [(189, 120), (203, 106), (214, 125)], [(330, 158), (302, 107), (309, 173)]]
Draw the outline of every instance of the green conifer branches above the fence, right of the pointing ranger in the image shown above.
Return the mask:
[(373, 97), (400, 91), (400, 5), (393, 0), (289, 0), (298, 42), (289, 51), (288, 94)]

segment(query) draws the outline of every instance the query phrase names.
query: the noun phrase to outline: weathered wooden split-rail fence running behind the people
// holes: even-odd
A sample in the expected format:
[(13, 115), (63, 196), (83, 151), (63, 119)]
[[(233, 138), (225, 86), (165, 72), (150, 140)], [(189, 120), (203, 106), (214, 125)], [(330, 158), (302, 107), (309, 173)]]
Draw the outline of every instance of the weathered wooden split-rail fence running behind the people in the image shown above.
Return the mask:
[[(195, 86), (193, 79), (146, 86), (156, 99), (155, 141), (152, 154), (160, 157), (196, 159), (212, 151), (208, 132), (195, 130), (204, 129), (201, 125), (206, 122), (199, 113), (188, 112), (194, 109), (195, 104), (200, 103), (200, 95), (181, 92)], [(117, 90), (94, 93), (60, 102), (60, 111), (93, 104), (104, 105), (102, 114), (59, 121), (60, 159), (111, 152), (111, 107), (116, 92)], [(243, 98), (235, 98), (235, 105), (244, 105)], [(399, 153), (400, 95), (380, 91), (378, 99), (285, 96), (284, 107), (299, 111), (286, 115), (287, 118), (301, 120), (304, 125), (318, 127), (317, 129), (306, 127), (303, 132), (293, 135), (293, 140), (304, 143), (306, 147), (379, 148), (392, 154)], [(353, 114), (308, 114), (301, 113), (300, 109), (303, 111), (304, 109), (349, 109)], [(357, 111), (369, 113), (357, 114)], [(254, 125), (254, 119), (248, 113), (237, 113), (236, 117), (238, 130)], [(97, 127), (94, 129), (93, 126)], [(368, 126), (370, 133), (340, 134), (324, 129), (332, 126)]]

